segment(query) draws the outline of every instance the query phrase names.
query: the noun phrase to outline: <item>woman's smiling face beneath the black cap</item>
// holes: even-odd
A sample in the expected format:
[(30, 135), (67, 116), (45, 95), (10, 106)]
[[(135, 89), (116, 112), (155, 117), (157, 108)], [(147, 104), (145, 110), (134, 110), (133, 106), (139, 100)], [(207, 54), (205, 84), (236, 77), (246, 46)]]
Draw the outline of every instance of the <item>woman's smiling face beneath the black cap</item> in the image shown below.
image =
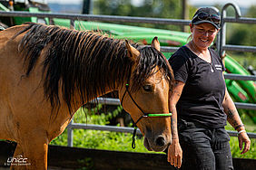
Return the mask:
[(196, 46), (200, 49), (208, 48), (214, 41), (217, 30), (210, 23), (202, 23), (197, 25), (191, 24), (192, 39)]

